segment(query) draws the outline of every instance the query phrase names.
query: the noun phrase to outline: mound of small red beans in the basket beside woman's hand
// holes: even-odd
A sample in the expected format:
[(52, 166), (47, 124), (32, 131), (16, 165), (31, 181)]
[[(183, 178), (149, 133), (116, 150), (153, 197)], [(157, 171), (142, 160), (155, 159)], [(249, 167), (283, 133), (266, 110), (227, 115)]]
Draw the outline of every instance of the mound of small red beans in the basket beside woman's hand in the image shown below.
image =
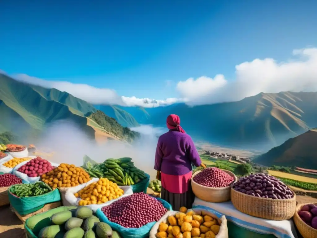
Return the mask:
[(205, 187), (223, 188), (234, 182), (234, 178), (221, 169), (209, 167), (195, 175), (193, 181)]

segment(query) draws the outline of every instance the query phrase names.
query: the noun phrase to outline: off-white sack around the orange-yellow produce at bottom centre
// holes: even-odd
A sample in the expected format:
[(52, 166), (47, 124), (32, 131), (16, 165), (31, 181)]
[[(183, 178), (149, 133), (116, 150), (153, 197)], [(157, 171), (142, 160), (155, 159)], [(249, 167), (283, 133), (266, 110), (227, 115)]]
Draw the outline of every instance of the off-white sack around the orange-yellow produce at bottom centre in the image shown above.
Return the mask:
[[(201, 208), (193, 208), (190, 209), (193, 210), (197, 215), (202, 215), (202, 212), (204, 213), (203, 215), (209, 215), (214, 219), (217, 219), (219, 225), (220, 225), (220, 229), (219, 229), (219, 233), (215, 236), (215, 238), (228, 238), (228, 227), (227, 227), (227, 219), (225, 216), (220, 216), (217, 217), (217, 215), (209, 212), (208, 210), (205, 209), (201, 209)], [(154, 226), (152, 227), (151, 231), (150, 231), (150, 238), (156, 238), (156, 234), (158, 233), (159, 230), (159, 224), (161, 222), (168, 222), (168, 217), (177, 214), (178, 211), (167, 211), (167, 213), (165, 213), (164, 216), (162, 216), (162, 218), (156, 222), (154, 224)]]

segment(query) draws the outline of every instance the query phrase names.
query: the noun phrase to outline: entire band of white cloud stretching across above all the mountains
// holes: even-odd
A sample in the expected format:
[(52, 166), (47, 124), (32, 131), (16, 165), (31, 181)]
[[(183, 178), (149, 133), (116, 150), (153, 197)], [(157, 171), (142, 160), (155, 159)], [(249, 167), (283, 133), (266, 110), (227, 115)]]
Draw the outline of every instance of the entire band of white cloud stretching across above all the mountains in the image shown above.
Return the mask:
[[(143, 107), (158, 107), (176, 102), (201, 105), (239, 101), (260, 92), (317, 91), (317, 48), (294, 50), (293, 56), (292, 60), (281, 63), (272, 58), (241, 63), (236, 65), (236, 76), (232, 80), (226, 80), (222, 74), (218, 74), (214, 78), (201, 76), (196, 80), (189, 78), (180, 81), (176, 90), (181, 98), (165, 100), (119, 96), (112, 89), (100, 89), (87, 84), (65, 81), (46, 81), (25, 74), (15, 75), (14, 78), (42, 87), (66, 91), (92, 104)], [(172, 85), (172, 81), (165, 82), (167, 87)]]

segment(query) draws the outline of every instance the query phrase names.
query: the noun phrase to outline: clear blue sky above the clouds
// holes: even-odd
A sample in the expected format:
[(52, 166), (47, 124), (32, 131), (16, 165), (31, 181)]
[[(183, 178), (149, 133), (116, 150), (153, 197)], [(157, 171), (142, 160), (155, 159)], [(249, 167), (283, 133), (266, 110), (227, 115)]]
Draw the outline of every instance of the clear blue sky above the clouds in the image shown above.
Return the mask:
[(316, 46), (316, 1), (1, 1), (0, 69), (179, 97), (179, 81)]

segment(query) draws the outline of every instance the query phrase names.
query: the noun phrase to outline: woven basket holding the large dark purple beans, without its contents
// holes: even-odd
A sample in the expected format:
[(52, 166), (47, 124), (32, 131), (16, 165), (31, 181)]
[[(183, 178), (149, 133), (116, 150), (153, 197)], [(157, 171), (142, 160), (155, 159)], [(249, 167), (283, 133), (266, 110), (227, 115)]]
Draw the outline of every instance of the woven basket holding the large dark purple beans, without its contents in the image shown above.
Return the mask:
[(231, 188), (231, 202), (240, 212), (269, 220), (288, 220), (296, 208), (296, 195), (290, 199), (255, 197)]

